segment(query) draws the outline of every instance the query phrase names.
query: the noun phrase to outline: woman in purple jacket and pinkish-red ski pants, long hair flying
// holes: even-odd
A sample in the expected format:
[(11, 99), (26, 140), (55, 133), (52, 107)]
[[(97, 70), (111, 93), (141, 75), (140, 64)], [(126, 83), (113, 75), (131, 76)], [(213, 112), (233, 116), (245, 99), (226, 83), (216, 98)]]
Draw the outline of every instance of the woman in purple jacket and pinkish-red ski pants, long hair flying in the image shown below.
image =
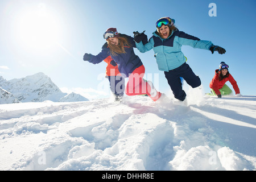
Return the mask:
[[(143, 39), (147, 40), (147, 36), (144, 36)], [(102, 46), (101, 52), (96, 56), (85, 53), (84, 61), (98, 64), (111, 56), (122, 76), (129, 77), (125, 89), (127, 96), (147, 94), (153, 101), (157, 101), (161, 93), (154, 88), (151, 81), (143, 80), (145, 68), (141, 59), (134, 53), (133, 48), (136, 47), (134, 38), (119, 34), (116, 28), (108, 28), (104, 33), (104, 39), (107, 42)], [(118, 88), (115, 89), (118, 90)]]

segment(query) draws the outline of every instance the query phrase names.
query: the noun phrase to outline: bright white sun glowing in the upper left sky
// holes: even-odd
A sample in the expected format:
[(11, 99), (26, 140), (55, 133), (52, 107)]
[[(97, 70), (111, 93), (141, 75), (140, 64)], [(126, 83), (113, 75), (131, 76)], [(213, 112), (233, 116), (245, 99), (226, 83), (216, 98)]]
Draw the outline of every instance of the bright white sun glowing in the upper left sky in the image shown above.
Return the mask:
[(47, 10), (44, 3), (23, 11), (17, 22), (16, 32), (23, 48), (50, 49), (56, 44), (61, 32), (56, 16)]

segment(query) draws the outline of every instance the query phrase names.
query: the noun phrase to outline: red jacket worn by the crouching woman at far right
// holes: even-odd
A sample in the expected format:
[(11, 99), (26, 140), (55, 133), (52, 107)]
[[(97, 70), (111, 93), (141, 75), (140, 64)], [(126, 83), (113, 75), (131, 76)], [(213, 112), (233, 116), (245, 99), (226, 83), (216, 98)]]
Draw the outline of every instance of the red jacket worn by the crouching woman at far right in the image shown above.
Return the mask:
[(221, 94), (219, 89), (221, 89), (224, 86), (225, 82), (227, 81), (229, 81), (230, 84), (232, 84), (236, 94), (240, 93), (236, 80), (234, 80), (233, 76), (230, 73), (228, 74), (229, 74), (228, 77), (223, 78), (223, 80), (219, 80), (218, 69), (216, 69), (215, 75), (212, 81), (210, 82), (210, 88), (213, 89), (217, 95)]

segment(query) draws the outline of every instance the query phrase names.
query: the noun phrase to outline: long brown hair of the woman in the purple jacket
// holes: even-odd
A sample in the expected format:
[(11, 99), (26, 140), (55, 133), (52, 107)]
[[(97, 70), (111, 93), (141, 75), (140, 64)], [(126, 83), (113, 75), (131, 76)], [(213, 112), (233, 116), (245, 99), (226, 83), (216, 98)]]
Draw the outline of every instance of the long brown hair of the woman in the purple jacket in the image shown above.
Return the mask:
[(117, 38), (118, 38), (118, 45), (117, 46), (112, 44), (111, 41), (109, 39), (107, 39), (108, 46), (109, 46), (109, 49), (110, 49), (110, 53), (113, 56), (117, 56), (121, 53), (126, 53), (125, 52), (125, 47), (131, 47), (131, 43), (129, 42), (129, 40), (125, 36), (118, 36)]

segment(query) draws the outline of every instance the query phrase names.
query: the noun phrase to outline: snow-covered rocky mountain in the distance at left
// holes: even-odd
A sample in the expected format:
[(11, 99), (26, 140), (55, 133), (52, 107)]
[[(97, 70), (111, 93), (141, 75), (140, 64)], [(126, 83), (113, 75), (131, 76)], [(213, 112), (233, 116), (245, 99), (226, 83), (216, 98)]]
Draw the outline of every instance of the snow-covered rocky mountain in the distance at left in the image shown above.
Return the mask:
[[(20, 102), (43, 102), (50, 100), (53, 102), (75, 102), (86, 101), (85, 97), (79, 94), (68, 94), (61, 92), (51, 78), (44, 73), (36, 73), (35, 75), (26, 76), (24, 78), (5, 80), (0, 76), (0, 85), (18, 98)], [(2, 96), (3, 97), (3, 96)], [(0, 102), (7, 104), (7, 102)]]

